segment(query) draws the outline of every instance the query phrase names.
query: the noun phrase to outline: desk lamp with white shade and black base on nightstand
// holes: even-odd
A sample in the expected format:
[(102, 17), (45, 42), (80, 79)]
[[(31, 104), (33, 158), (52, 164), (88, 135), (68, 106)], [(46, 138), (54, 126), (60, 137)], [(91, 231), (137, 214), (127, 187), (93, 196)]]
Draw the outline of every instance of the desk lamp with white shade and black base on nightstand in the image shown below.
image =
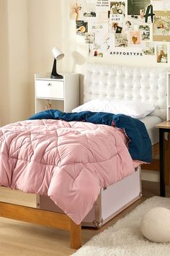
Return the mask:
[(62, 59), (64, 54), (56, 47), (54, 47), (52, 49), (52, 53), (53, 53), (53, 56), (54, 56), (54, 62), (53, 62), (53, 69), (52, 69), (50, 78), (52, 78), (52, 79), (62, 79), (63, 76), (61, 74), (57, 73), (56, 62), (57, 62), (57, 60)]

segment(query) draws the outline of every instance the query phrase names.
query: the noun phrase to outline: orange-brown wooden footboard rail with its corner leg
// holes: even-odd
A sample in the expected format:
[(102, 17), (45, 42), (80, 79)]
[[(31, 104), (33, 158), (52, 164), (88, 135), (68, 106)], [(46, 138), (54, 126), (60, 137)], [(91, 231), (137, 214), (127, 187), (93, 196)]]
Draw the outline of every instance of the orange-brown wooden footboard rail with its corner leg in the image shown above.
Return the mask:
[(79, 249), (81, 247), (81, 224), (76, 225), (64, 213), (0, 202), (0, 217), (70, 231), (71, 248)]

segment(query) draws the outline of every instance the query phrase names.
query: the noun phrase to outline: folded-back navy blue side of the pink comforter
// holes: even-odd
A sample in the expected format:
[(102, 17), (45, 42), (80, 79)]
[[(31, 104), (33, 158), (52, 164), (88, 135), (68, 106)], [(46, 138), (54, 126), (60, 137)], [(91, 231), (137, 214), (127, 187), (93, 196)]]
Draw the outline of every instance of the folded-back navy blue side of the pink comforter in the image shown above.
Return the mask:
[(65, 121), (86, 121), (93, 124), (106, 124), (124, 129), (130, 139), (128, 144), (129, 153), (134, 160), (151, 162), (151, 140), (148, 136), (145, 124), (138, 119), (123, 114), (110, 114), (104, 112), (82, 111), (79, 113), (65, 113), (58, 110), (42, 111), (30, 116), (32, 119), (61, 119)]

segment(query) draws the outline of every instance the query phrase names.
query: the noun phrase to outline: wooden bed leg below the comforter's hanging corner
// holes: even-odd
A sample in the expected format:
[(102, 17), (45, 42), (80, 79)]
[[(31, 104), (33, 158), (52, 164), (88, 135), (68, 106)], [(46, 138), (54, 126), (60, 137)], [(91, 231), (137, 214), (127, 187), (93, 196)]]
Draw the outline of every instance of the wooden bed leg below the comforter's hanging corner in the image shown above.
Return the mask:
[(72, 249), (81, 247), (81, 224), (76, 225), (70, 218), (70, 243)]

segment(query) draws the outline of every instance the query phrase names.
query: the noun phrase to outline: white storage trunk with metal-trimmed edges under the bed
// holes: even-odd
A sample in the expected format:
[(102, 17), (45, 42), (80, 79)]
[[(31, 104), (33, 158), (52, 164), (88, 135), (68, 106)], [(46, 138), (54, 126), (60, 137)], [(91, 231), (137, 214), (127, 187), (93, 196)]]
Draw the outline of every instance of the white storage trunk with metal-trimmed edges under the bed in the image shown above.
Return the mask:
[[(130, 176), (101, 189), (93, 208), (82, 221), (82, 226), (99, 227), (116, 216), (122, 210), (142, 196), (140, 185), (140, 167)], [(37, 208), (63, 213), (50, 197), (37, 195)]]

